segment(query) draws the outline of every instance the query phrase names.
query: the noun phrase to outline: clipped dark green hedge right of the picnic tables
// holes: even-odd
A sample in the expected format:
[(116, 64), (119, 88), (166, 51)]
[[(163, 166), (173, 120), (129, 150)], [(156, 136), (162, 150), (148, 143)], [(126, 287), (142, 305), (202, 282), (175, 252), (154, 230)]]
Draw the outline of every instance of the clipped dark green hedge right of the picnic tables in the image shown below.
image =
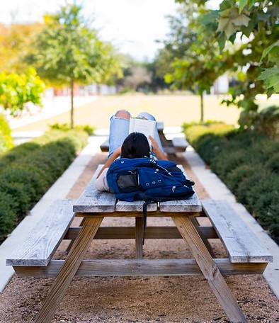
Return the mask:
[(185, 133), (237, 200), (279, 242), (279, 141), (251, 130), (217, 128), (192, 126)]

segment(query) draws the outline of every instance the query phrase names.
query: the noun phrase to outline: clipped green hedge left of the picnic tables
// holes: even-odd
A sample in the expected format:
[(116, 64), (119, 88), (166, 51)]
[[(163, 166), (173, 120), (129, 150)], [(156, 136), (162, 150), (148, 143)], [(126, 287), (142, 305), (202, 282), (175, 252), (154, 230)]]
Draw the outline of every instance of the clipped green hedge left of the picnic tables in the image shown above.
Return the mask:
[(84, 131), (50, 131), (0, 157), (0, 240), (63, 174), (87, 139)]

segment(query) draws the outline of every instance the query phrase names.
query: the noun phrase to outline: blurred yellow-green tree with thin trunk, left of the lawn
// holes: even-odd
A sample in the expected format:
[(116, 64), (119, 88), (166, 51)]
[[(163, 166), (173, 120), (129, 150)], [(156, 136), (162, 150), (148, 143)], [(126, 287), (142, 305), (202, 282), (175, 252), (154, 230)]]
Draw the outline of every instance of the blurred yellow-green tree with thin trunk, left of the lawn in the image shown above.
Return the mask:
[(45, 16), (45, 28), (27, 57), (38, 74), (71, 89), (71, 127), (74, 127), (74, 83), (106, 81), (121, 74), (113, 46), (101, 42), (96, 30), (81, 16), (81, 6), (67, 4), (55, 15)]

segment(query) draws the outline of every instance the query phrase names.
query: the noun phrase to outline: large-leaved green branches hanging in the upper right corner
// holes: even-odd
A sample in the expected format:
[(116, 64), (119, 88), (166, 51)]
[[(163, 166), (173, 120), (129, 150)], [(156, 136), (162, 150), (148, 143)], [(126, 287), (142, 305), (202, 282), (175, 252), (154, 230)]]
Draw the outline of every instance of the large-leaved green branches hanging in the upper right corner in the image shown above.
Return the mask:
[[(202, 6), (207, 0), (195, 2)], [(228, 105), (233, 103), (255, 113), (256, 94), (271, 96), (279, 91), (278, 14), (277, 0), (224, 0), (219, 10), (200, 13), (200, 35), (212, 44), (218, 43), (219, 54), (224, 55), (229, 42), (242, 40), (231, 54), (232, 64), (227, 65), (237, 76), (229, 90), (232, 99), (224, 101)]]

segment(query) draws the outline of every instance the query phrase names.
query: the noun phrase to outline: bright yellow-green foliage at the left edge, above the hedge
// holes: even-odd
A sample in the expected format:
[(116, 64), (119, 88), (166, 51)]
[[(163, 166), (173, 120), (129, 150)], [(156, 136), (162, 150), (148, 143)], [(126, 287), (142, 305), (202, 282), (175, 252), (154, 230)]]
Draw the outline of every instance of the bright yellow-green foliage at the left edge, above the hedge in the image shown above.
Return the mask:
[(23, 111), (26, 103), (40, 105), (44, 90), (45, 84), (32, 67), (25, 74), (0, 73), (0, 105), (13, 116)]

